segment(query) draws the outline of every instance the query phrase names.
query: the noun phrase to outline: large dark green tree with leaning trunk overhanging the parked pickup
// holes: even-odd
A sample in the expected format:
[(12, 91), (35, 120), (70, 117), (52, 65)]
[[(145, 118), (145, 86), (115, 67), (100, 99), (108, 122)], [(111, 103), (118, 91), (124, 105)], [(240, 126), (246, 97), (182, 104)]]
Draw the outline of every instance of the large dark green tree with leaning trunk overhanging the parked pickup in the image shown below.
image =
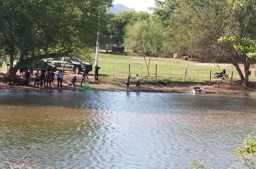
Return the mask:
[(13, 80), (20, 66), (34, 60), (86, 48), (104, 26), (111, 4), (112, 0), (1, 0), (0, 52), (10, 61), (5, 79)]

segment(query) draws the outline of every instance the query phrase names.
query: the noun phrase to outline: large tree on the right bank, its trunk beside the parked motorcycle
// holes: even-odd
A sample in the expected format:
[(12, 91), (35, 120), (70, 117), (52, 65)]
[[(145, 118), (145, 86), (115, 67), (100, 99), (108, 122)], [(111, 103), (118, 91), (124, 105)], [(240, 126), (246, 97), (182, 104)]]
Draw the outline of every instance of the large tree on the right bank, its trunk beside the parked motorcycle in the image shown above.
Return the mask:
[[(230, 2), (233, 2), (232, 4)], [(248, 71), (255, 62), (245, 51), (236, 50), (221, 36), (255, 39), (256, 1), (165, 0), (154, 9), (155, 20), (169, 31), (170, 52), (186, 53), (216, 63), (231, 63), (240, 80), (248, 85)], [(235, 4), (235, 5), (234, 5)], [(234, 8), (236, 7), (236, 8)], [(239, 64), (244, 64), (244, 74)]]

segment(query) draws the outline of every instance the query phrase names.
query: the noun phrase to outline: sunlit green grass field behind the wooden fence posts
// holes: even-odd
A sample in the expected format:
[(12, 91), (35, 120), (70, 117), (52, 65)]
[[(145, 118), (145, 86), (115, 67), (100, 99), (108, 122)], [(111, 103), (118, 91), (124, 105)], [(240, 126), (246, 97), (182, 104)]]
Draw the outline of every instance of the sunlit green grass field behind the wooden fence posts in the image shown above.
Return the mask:
[[(95, 57), (95, 54), (93, 54)], [(169, 58), (152, 58), (149, 67), (150, 77), (147, 76), (146, 64), (142, 57), (127, 55), (111, 55), (99, 54), (99, 80), (103, 82), (124, 83), (129, 71), (132, 81), (135, 82), (136, 74), (141, 76), (142, 83), (154, 84), (159, 80), (178, 83), (206, 83), (209, 82), (210, 70), (212, 70), (212, 80), (215, 72), (221, 72), (224, 68), (231, 78), (233, 71), (233, 79), (239, 79), (239, 75), (231, 64), (226, 66), (212, 65), (194, 65), (191, 62), (184, 62), (180, 59)], [(157, 64), (157, 80), (155, 79), (155, 65)], [(186, 81), (184, 82), (184, 72), (187, 68)], [(255, 80), (254, 70), (250, 76), (250, 80)]]

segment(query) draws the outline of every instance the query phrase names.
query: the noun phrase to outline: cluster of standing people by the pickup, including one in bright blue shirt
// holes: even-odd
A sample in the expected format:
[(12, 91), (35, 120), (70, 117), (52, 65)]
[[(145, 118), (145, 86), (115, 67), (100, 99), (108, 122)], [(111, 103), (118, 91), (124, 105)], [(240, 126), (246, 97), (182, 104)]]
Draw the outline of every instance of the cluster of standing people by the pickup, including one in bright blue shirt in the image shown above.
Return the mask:
[[(50, 70), (42, 70), (40, 73), (39, 71), (36, 71), (36, 73), (34, 74), (36, 76), (35, 82), (34, 82), (34, 87), (36, 86), (37, 83), (37, 88), (39, 87), (39, 82), (40, 82), (40, 87), (42, 85), (44, 85), (45, 88), (48, 88), (48, 84), (49, 84), (49, 89), (51, 89), (51, 83), (52, 83), (52, 87), (53, 87), (53, 81), (55, 79), (55, 73), (53, 71)], [(63, 79), (63, 73), (61, 71), (58, 71), (58, 73), (56, 74), (57, 76), (57, 87), (62, 87), (62, 79)], [(44, 83), (43, 83), (44, 81)], [(46, 83), (46, 85), (45, 85)]]

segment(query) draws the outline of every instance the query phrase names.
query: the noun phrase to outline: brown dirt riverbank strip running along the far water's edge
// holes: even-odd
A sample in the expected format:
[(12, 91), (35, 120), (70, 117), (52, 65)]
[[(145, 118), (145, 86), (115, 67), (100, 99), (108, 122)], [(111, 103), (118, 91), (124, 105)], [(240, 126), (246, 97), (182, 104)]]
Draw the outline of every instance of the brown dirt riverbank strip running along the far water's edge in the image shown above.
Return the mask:
[[(69, 79), (72, 78), (74, 74), (65, 73), (63, 79), (62, 88), (57, 87), (57, 80), (54, 81), (54, 87), (51, 87), (51, 90), (79, 90), (81, 75), (77, 76), (76, 87), (72, 87)], [(92, 90), (102, 90), (102, 91), (129, 91), (129, 92), (161, 92), (161, 93), (192, 93), (193, 87), (203, 87), (208, 94), (215, 93), (223, 93), (223, 94), (246, 94), (246, 93), (256, 93), (256, 87), (254, 88), (246, 88), (239, 85), (236, 85), (236, 82), (233, 82), (233, 85), (230, 85), (231, 80), (225, 79), (220, 80), (217, 79), (211, 83), (211, 85), (205, 84), (196, 84), (196, 83), (176, 83), (176, 84), (166, 84), (166, 86), (161, 84), (151, 85), (151, 84), (141, 84), (141, 90), (137, 88), (134, 90), (135, 84), (130, 84), (129, 89), (125, 84), (114, 84), (114, 83), (106, 83), (106, 82), (94, 82), (94, 77), (90, 74), (88, 80), (88, 85), (92, 88)], [(30, 78), (30, 83), (28, 87), (23, 86), (13, 86), (7, 85), (6, 83), (0, 82), (0, 89), (15, 89), (15, 90), (44, 90), (44, 86), (37, 88), (33, 87), (34, 78)], [(218, 87), (218, 83), (220, 83)], [(84, 85), (84, 84), (83, 84)], [(255, 82), (252, 82), (252, 86), (256, 86)]]

